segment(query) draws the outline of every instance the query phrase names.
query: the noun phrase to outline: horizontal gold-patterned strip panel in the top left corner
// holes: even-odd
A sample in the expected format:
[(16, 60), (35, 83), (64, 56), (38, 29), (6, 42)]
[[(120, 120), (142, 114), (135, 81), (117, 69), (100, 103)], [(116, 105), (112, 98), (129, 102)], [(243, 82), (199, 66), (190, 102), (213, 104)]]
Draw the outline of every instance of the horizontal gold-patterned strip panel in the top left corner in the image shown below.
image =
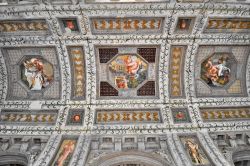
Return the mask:
[(45, 20), (13, 20), (0, 21), (0, 32), (2, 33), (19, 33), (31, 35), (30, 32), (48, 33), (48, 25)]

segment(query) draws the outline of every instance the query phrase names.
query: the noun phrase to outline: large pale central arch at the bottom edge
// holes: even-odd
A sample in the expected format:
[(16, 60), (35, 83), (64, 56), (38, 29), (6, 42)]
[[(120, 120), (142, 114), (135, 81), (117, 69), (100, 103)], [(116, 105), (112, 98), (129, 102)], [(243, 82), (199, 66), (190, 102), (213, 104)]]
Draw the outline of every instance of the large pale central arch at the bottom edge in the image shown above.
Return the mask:
[(91, 166), (173, 166), (164, 157), (137, 151), (104, 155)]

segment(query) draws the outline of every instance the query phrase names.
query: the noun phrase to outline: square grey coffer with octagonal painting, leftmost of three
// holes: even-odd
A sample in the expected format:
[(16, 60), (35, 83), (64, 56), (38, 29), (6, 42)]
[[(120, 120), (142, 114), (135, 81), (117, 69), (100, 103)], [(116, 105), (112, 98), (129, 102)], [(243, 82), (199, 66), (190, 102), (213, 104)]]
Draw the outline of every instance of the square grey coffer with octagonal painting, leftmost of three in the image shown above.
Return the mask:
[(59, 99), (60, 67), (53, 47), (4, 48), (7, 99)]

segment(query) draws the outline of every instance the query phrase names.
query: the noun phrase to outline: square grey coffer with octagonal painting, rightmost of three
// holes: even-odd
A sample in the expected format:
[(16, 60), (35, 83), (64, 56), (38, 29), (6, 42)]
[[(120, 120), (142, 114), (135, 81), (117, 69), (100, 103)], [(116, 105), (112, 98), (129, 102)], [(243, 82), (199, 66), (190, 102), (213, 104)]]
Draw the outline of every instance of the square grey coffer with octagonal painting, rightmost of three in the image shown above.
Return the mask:
[(196, 95), (245, 96), (249, 53), (249, 46), (200, 46), (194, 73)]

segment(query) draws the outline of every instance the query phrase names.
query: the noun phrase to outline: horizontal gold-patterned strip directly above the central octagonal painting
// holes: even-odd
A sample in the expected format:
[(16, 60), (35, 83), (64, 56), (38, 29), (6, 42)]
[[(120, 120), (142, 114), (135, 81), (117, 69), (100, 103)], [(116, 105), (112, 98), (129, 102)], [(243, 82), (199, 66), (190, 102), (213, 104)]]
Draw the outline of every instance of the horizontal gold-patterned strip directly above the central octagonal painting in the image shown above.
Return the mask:
[(95, 34), (107, 33), (160, 33), (163, 18), (92, 18), (92, 32)]

